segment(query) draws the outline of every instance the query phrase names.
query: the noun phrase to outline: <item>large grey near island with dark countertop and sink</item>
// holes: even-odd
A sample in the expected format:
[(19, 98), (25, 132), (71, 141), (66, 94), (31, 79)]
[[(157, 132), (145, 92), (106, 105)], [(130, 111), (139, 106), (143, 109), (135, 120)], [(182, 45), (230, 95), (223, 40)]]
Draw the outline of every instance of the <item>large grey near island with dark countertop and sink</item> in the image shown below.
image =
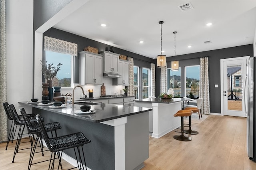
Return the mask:
[[(80, 105), (50, 109), (27, 102), (19, 107), (32, 107), (35, 114), (44, 117), (44, 123), (58, 121), (58, 136), (82, 132), (92, 140), (84, 145), (86, 165), (91, 170), (136, 170), (148, 158), (148, 112), (152, 109), (105, 103), (92, 104), (94, 114), (75, 113)], [(67, 161), (76, 164), (73, 150), (65, 150)], [(72, 163), (73, 162), (73, 163)]]

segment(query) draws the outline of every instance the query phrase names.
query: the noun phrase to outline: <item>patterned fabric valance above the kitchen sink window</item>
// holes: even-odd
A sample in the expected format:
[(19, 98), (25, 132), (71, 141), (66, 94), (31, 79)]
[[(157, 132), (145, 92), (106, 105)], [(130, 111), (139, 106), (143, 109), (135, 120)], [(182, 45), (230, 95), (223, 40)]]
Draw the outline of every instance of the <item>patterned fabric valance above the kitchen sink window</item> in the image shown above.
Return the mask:
[(77, 56), (77, 44), (44, 36), (44, 50)]

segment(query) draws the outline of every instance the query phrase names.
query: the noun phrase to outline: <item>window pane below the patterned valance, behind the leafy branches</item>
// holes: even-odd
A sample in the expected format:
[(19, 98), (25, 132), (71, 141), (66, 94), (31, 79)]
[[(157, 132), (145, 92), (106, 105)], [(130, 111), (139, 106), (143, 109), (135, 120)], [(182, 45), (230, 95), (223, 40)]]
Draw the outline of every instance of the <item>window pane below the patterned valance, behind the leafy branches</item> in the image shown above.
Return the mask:
[(72, 87), (73, 83), (73, 59), (69, 54), (57, 53), (52, 51), (45, 51), (47, 63), (54, 63), (53, 66), (61, 63), (60, 70), (52, 81), (53, 86)]

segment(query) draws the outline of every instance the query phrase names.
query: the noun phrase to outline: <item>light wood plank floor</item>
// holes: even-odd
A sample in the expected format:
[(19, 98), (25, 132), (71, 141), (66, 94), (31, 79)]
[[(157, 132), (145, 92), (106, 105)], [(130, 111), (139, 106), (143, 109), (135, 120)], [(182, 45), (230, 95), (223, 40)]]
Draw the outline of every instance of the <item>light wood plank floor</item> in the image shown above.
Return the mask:
[[(204, 116), (204, 115), (203, 115)], [(150, 137), (149, 158), (142, 170), (256, 170), (256, 162), (249, 160), (246, 151), (246, 118), (210, 115), (200, 124), (192, 124), (199, 134), (190, 135), (192, 141), (175, 140), (174, 131), (156, 139)], [(26, 146), (25, 146), (26, 145)], [(12, 156), (15, 143), (0, 143), (0, 170), (27, 169), (30, 150)], [(28, 147), (21, 144), (20, 147)], [(36, 154), (34, 161), (50, 158)], [(34, 164), (31, 170), (48, 169), (49, 162)], [(72, 168), (62, 160), (63, 169)]]

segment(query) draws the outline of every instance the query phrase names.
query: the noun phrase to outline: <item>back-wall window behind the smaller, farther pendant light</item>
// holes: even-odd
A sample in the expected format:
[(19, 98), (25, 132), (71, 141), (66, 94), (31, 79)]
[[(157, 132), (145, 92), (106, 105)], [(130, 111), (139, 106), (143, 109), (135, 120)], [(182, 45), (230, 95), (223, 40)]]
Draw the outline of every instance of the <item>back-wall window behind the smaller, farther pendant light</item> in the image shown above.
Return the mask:
[(167, 90), (172, 88), (174, 90), (174, 97), (180, 97), (180, 80), (180, 67), (179, 71), (172, 71), (172, 69), (167, 69)]

